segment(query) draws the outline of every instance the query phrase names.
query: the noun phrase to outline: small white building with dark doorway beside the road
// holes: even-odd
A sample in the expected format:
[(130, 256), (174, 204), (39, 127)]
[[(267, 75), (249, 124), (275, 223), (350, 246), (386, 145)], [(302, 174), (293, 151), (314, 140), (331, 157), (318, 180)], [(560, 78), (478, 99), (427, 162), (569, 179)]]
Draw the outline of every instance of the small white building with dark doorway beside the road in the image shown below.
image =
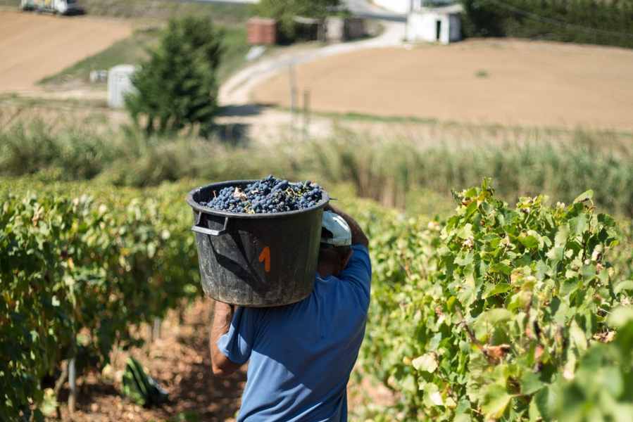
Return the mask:
[(461, 39), (461, 4), (444, 7), (425, 7), (422, 0), (414, 0), (407, 16), (407, 41), (428, 41), (449, 44)]

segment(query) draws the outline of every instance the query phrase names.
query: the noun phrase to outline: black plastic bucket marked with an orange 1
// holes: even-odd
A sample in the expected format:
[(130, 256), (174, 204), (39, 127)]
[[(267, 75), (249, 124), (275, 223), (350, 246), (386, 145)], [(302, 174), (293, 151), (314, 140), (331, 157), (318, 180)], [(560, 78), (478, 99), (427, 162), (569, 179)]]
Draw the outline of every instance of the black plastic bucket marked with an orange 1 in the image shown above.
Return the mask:
[(234, 305), (269, 307), (299, 302), (312, 292), (323, 207), (275, 214), (233, 214), (203, 207), (222, 188), (251, 180), (224, 181), (189, 192), (194, 210), (204, 293)]

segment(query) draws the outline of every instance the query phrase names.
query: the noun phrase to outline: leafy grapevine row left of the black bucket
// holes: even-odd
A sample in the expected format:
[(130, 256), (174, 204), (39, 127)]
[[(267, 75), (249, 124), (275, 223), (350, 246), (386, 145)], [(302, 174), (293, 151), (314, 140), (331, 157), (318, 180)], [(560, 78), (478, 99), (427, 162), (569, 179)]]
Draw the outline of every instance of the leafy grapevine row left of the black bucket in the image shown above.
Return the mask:
[(41, 380), (61, 361), (75, 357), (80, 373), (102, 367), (113, 347), (139, 344), (139, 324), (199, 292), (182, 186), (146, 193), (152, 199), (111, 188), (92, 190), (96, 199), (73, 199), (63, 185), (24, 189), (0, 186), (0, 414), (8, 420), (37, 409)]

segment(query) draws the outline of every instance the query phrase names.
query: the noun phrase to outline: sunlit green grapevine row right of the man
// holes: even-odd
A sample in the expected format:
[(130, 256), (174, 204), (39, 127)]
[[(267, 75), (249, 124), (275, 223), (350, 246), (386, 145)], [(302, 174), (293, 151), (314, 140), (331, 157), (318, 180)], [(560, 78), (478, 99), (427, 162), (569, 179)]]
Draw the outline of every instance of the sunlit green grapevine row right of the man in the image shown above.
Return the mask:
[[(569, 206), (522, 198), (511, 209), (484, 182), (456, 199), (445, 224), (387, 219), (370, 237), (361, 366), (399, 392), (387, 419), (550, 420), (552, 391), (572, 389), (587, 350), (613, 338), (608, 315), (630, 303), (633, 282), (614, 280), (605, 258), (630, 252), (591, 193)], [(613, 399), (630, 405), (623, 391)]]

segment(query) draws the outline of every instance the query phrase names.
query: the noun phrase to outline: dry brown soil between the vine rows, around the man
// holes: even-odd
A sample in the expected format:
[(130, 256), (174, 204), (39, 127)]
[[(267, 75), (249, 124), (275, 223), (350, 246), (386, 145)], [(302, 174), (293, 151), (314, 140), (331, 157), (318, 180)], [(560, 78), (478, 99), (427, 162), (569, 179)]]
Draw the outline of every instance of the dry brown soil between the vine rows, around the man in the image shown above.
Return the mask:
[[(213, 376), (207, 343), (212, 304), (212, 300), (199, 300), (184, 308), (180, 316), (177, 312), (171, 312), (163, 321), (160, 338), (147, 343), (142, 349), (113, 352), (113, 363), (104, 374), (80, 378), (77, 407), (73, 415), (68, 414), (65, 405), (68, 399), (66, 384), (60, 395), (62, 420), (234, 421), (246, 381), (246, 367), (230, 378)], [(149, 341), (149, 330), (144, 337)], [(145, 409), (120, 395), (120, 377), (130, 354), (168, 391), (168, 404)], [(358, 420), (353, 416), (353, 411), (361, 402), (392, 404), (394, 400), (386, 388), (372, 385), (368, 378), (363, 378), (360, 383), (351, 382), (348, 396), (351, 421)], [(185, 418), (187, 415), (189, 418)], [(47, 420), (53, 422), (56, 418)]]

